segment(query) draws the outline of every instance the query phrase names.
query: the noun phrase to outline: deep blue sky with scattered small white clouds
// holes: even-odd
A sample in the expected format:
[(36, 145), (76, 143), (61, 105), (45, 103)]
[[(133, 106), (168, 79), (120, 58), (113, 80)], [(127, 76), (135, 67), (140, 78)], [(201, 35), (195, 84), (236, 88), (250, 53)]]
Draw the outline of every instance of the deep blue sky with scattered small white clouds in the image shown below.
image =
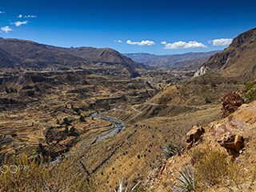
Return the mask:
[(53, 46), (206, 52), (254, 27), (255, 0), (0, 0), (0, 37)]

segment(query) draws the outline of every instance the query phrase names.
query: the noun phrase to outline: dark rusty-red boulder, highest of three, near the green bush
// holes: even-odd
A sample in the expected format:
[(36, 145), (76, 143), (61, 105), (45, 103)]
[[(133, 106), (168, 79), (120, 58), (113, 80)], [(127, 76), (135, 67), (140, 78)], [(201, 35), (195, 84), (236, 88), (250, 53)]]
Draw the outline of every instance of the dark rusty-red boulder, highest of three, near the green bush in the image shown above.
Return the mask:
[(222, 98), (222, 117), (226, 118), (229, 114), (234, 113), (235, 110), (238, 110), (239, 106), (242, 106), (242, 103), (244, 101), (238, 94), (226, 94)]

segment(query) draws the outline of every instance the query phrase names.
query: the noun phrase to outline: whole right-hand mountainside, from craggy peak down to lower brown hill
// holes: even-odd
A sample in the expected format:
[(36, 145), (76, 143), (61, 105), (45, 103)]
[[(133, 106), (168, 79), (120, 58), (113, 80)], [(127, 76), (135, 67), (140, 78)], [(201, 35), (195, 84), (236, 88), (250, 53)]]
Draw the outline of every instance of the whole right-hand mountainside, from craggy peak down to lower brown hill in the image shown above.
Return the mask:
[(238, 35), (226, 50), (203, 64), (196, 77), (169, 86), (149, 102), (159, 109), (175, 105), (204, 106), (218, 103), (230, 92), (243, 90), (245, 82), (256, 78), (255, 40), (256, 29)]

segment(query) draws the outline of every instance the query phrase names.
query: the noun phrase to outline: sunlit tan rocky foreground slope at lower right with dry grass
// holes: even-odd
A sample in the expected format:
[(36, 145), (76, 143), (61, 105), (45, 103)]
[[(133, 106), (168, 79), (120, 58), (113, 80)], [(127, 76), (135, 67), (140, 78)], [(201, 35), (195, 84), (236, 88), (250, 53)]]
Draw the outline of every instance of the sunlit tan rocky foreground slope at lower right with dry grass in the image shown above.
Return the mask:
[[(256, 143), (255, 109), (256, 102), (249, 105), (244, 104), (231, 117), (210, 122), (207, 126), (203, 126), (206, 132), (202, 134), (200, 141), (181, 155), (169, 158), (160, 169), (156, 170), (158, 178), (154, 179), (154, 186), (152, 182), (150, 183), (150, 179), (153, 178), (148, 179), (149, 186), (151, 189), (153, 187), (153, 190), (150, 191), (162, 192), (166, 191), (167, 187), (165, 186), (179, 186), (180, 182), (177, 179), (180, 175), (179, 171), (184, 170), (185, 167), (194, 170), (193, 174), (197, 182), (195, 191), (256, 191), (256, 183), (254, 182), (256, 174), (256, 154), (254, 152)], [(227, 145), (225, 146), (226, 149), (220, 145), (222, 143), (219, 141), (223, 141), (223, 138), (230, 134), (240, 135), (246, 140), (244, 148), (239, 151), (238, 156), (232, 157), (228, 153), (230, 149)], [(185, 135), (184, 138), (186, 138)], [(234, 146), (236, 144), (238, 146), (237, 143), (229, 142), (228, 145)], [(223, 169), (223, 167), (225, 168)], [(218, 177), (216, 177), (215, 170), (218, 170)], [(216, 178), (218, 178), (218, 182), (213, 182), (210, 185), (210, 179), (213, 181)]]

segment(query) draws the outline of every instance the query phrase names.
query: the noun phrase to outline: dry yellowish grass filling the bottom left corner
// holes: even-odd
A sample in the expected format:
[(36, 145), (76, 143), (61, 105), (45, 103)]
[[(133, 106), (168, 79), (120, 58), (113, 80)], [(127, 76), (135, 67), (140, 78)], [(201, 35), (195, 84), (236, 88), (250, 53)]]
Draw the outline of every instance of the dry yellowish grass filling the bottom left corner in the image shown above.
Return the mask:
[[(22, 168), (4, 171), (0, 175), (0, 191), (85, 191), (94, 192), (94, 184), (82, 173), (72, 171), (71, 160), (66, 159), (54, 166), (40, 161), (30, 160), (27, 157), (17, 158), (12, 163), (4, 165), (23, 166)], [(25, 168), (24, 168), (25, 166)], [(16, 171), (14, 171), (16, 170)]]

